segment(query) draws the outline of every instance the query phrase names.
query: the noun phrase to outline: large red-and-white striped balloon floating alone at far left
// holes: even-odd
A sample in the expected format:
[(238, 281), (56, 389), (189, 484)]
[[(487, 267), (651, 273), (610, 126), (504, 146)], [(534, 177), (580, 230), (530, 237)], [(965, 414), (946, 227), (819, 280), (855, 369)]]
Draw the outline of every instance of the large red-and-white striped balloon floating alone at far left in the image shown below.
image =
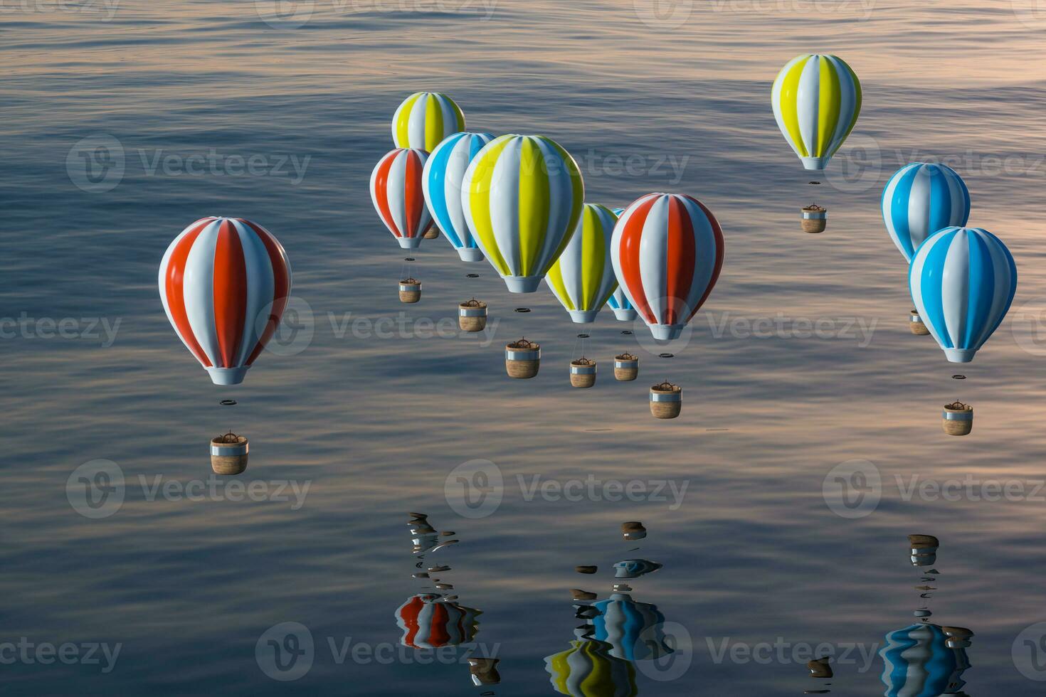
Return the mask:
[(238, 385), (276, 331), (291, 266), (272, 233), (244, 218), (205, 217), (160, 261), (160, 300), (214, 385)]

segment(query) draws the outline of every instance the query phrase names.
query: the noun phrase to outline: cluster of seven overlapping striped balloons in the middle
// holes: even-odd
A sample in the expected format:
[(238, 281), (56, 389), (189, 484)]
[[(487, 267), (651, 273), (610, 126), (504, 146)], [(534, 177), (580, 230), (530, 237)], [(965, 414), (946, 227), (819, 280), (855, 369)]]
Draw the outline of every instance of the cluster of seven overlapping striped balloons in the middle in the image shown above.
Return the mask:
[(586, 203), (582, 172), (555, 141), (464, 127), (445, 94), (412, 94), (396, 109), (396, 149), (374, 167), (370, 195), (401, 247), (420, 245), (435, 220), (463, 261), (485, 258), (510, 293), (535, 293), (544, 279), (576, 323), (610, 303), (655, 339), (679, 336), (723, 266), (723, 231), (707, 207), (668, 193), (624, 209)]

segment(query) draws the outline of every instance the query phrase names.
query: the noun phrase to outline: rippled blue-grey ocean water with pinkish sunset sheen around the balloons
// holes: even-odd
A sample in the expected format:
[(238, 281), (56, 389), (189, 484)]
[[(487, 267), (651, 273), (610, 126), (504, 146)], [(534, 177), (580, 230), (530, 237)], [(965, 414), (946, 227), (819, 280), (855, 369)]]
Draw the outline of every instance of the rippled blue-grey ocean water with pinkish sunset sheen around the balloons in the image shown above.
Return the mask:
[[(674, 651), (600, 653), (574, 677), (631, 669), (643, 695), (883, 694), (877, 653), (925, 606), (975, 633), (969, 694), (1041, 692), (1036, 2), (0, 10), (3, 694), (555, 694), (544, 659), (575, 638), (571, 588), (605, 599), (612, 565), (637, 558), (663, 564), (628, 582)], [(779, 67), (811, 50), (844, 57), (865, 97), (817, 187), (769, 103)], [(451, 94), (471, 130), (554, 138), (588, 201), (704, 202), (726, 262), (692, 332), (656, 347), (608, 309), (582, 346), (547, 288), (510, 296), (442, 239), (414, 254), (422, 302), (401, 304), (405, 255), (367, 181), (418, 90)], [(905, 262), (879, 213), (889, 175), (924, 159), (964, 177), (971, 224), (1020, 273), (1009, 318), (961, 369), (909, 333)], [(811, 201), (829, 210), (821, 235), (799, 230)], [(210, 384), (156, 291), (166, 246), (205, 215), (266, 226), (294, 271), (288, 327), (236, 388)], [(490, 304), (490, 330), (446, 330), (470, 297)], [(504, 374), (520, 336), (542, 344), (532, 380)], [(623, 350), (640, 356), (635, 382), (611, 378)], [(592, 390), (567, 381), (583, 351), (599, 362)], [(684, 390), (674, 421), (646, 403), (666, 378)], [(976, 410), (965, 438), (941, 433), (953, 399)], [(226, 429), (251, 440), (244, 490), (210, 473), (207, 440)], [(88, 467), (100, 488), (85, 488), (77, 468), (98, 460), (122, 484)], [(492, 464), (462, 480), (476, 460)], [(855, 460), (872, 479), (843, 478), (861, 485), (846, 507), (824, 491)], [(1009, 494), (988, 499), (995, 485)], [(418, 558), (409, 511), (459, 541)], [(649, 536), (622, 539), (628, 520)], [(933, 583), (911, 564), (912, 533), (940, 539)], [(411, 578), (419, 563), (451, 566), (433, 576), (482, 610), (468, 644), (402, 645), (397, 608), (432, 588)], [(500, 683), (472, 684), (464, 659), (482, 653)], [(824, 653), (831, 684), (805, 667)]]

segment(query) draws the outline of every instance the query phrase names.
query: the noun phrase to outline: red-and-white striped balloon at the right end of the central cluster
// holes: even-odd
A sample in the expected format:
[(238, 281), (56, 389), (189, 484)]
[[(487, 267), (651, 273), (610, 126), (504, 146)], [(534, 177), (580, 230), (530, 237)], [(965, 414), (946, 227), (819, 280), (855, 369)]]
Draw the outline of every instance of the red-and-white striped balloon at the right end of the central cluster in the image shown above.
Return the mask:
[(723, 268), (723, 231), (697, 199), (650, 193), (614, 228), (611, 259), (624, 296), (654, 339), (678, 339)]

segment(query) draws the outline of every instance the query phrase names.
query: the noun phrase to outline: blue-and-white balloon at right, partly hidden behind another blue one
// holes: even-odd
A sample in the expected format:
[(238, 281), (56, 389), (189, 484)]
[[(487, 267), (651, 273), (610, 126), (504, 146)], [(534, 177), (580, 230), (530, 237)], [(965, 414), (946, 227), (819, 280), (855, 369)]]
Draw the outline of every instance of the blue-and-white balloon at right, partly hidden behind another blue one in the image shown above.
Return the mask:
[(910, 262), (923, 241), (941, 228), (964, 226), (970, 191), (954, 169), (913, 162), (899, 169), (883, 189), (883, 222)]

